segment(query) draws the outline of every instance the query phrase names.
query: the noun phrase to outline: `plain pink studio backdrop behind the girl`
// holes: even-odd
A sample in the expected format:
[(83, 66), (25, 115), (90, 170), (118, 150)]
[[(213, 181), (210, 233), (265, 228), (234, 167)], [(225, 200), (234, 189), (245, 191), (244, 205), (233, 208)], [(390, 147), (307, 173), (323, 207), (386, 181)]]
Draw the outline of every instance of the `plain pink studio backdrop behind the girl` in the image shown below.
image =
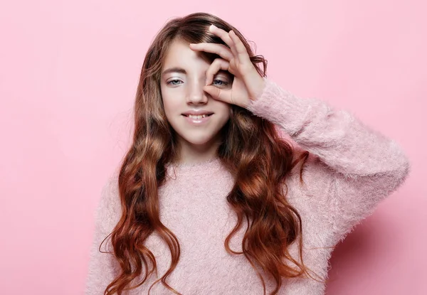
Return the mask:
[(327, 294), (427, 294), (422, 1), (2, 2), (1, 294), (83, 294), (144, 54), (169, 18), (196, 11), (254, 41), (283, 88), (351, 110), (411, 159), (404, 186), (337, 246)]

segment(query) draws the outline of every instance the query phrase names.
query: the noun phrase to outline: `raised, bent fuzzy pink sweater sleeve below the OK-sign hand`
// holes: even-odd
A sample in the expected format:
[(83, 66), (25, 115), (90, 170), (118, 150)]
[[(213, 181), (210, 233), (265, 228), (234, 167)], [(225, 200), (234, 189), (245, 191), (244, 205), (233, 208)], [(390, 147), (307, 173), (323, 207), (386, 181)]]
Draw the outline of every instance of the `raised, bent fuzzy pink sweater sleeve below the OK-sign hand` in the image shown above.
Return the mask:
[[(265, 88), (247, 109), (277, 124), (316, 161), (310, 181), (326, 195), (321, 214), (334, 242), (344, 237), (376, 205), (404, 183), (408, 158), (396, 141), (374, 131), (347, 111), (315, 98), (300, 98), (264, 77)], [(307, 162), (308, 163), (308, 162)]]

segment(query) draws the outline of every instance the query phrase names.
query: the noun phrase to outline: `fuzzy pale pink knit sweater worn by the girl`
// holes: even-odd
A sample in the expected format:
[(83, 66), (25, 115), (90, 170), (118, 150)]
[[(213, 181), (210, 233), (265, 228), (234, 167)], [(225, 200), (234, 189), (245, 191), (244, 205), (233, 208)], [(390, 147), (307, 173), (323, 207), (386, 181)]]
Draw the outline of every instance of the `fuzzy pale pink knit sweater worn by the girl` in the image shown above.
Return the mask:
[[(303, 172), (305, 185), (299, 184), (299, 169), (287, 179), (288, 200), (302, 218), (304, 262), (327, 278), (332, 247), (404, 183), (410, 170), (408, 158), (396, 141), (365, 126), (349, 112), (334, 110), (321, 100), (295, 97), (264, 79), (262, 95), (248, 109), (280, 127), (296, 148), (310, 151)], [(260, 279), (248, 260), (243, 255), (231, 256), (224, 249), (225, 237), (236, 224), (235, 213), (225, 198), (233, 186), (233, 176), (218, 159), (176, 166), (175, 174), (169, 170), (171, 177), (159, 188), (160, 218), (181, 245), (181, 257), (168, 278), (169, 285), (184, 295), (263, 294)], [(102, 190), (95, 215), (85, 294), (103, 294), (115, 277), (115, 260), (110, 254), (98, 252), (98, 247), (120, 214), (115, 173)], [(242, 249), (239, 243), (246, 228), (243, 221), (242, 230), (230, 245), (235, 251)], [(105, 248), (104, 243), (102, 250), (111, 250), (110, 243), (107, 245)], [(169, 248), (155, 233), (146, 245), (157, 259), (160, 277), (170, 265)], [(290, 253), (298, 259), (296, 242)], [(124, 294), (147, 294), (157, 279), (154, 277)], [(275, 284), (264, 279), (269, 294)], [(283, 283), (279, 294), (325, 293), (325, 284), (313, 279), (284, 279)], [(150, 294), (173, 293), (159, 282)]]

